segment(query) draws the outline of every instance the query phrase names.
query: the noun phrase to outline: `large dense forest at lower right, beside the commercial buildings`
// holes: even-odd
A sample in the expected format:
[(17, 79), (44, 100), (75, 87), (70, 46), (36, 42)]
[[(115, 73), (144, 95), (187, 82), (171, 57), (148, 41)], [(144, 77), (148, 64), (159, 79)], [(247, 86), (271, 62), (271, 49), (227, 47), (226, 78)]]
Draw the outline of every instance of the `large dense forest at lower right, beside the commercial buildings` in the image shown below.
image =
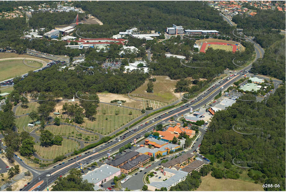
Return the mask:
[[(251, 135), (238, 134), (233, 127), (243, 128), (239, 132)], [(285, 190), (285, 85), (267, 101), (238, 100), (227, 110), (216, 112), (200, 150), (206, 156), (214, 156), (218, 163), (231, 165), (233, 159), (241, 161), (239, 166), (253, 167), (249, 171), (265, 175), (255, 178), (256, 181), (279, 183), (280, 190)], [(216, 169), (212, 175), (222, 178), (224, 174)]]

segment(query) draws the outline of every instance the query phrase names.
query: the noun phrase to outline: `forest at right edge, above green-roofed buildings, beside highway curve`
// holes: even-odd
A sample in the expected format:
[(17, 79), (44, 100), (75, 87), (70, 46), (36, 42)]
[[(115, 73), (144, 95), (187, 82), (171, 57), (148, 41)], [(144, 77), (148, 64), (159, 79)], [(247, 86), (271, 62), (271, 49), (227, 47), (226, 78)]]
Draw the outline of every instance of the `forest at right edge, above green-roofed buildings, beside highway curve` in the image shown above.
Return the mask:
[(253, 66), (259, 66), (251, 68), (254, 74), (270, 75), (285, 81), (285, 38), (267, 48), (264, 57)]

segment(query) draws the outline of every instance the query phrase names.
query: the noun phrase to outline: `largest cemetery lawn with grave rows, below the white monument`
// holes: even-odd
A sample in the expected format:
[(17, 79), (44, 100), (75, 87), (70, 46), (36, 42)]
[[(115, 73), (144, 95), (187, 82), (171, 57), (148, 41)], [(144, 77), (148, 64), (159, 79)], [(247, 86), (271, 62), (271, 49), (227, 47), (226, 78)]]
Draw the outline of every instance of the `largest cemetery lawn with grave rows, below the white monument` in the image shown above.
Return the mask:
[[(56, 111), (59, 110), (60, 114), (63, 113), (62, 105), (64, 103), (66, 102), (57, 103), (57, 106), (55, 107)], [(75, 104), (75, 102), (73, 102), (73, 104)], [(115, 115), (116, 111), (119, 112), (118, 115)], [(130, 111), (132, 112), (132, 115), (129, 115)], [(97, 114), (95, 115), (96, 120), (89, 121), (87, 118), (84, 118), (85, 122), (83, 124), (76, 125), (84, 127), (84, 129), (98, 132), (102, 135), (107, 135), (140, 115), (141, 111), (139, 110), (99, 103)], [(52, 115), (52, 117), (56, 116)], [(61, 115), (59, 115), (59, 117), (61, 117)], [(66, 115), (62, 115), (61, 121), (64, 122), (66, 117)]]

